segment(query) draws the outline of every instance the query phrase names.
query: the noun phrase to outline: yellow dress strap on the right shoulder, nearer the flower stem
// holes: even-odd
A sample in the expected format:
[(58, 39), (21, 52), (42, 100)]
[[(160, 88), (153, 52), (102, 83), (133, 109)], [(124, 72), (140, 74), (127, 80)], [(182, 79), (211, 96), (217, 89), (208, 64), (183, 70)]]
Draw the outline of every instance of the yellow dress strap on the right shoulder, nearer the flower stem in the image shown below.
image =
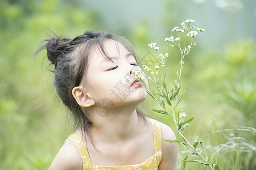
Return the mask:
[(154, 146), (155, 146), (155, 153), (158, 151), (162, 151), (162, 135), (159, 121), (151, 119), (152, 126), (153, 126), (153, 133), (154, 133)]

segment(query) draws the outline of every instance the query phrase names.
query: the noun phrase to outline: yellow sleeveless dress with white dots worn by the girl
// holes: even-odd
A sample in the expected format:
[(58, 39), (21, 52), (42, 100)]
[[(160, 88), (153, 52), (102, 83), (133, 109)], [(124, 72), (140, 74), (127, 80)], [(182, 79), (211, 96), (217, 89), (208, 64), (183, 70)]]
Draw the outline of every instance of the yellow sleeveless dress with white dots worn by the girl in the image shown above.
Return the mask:
[(80, 152), (82, 158), (82, 169), (93, 169), (93, 170), (155, 170), (158, 169), (158, 165), (160, 164), (163, 154), (162, 154), (162, 137), (161, 137), (161, 130), (160, 124), (156, 120), (152, 120), (152, 127), (154, 132), (154, 147), (155, 147), (155, 154), (151, 156), (151, 158), (145, 160), (141, 164), (134, 164), (134, 165), (124, 165), (120, 167), (104, 167), (100, 165), (94, 165), (90, 163), (90, 157), (88, 151), (84, 143), (82, 142), (81, 138), (73, 133), (71, 134), (68, 139), (71, 139), (73, 143), (75, 143), (77, 149)]

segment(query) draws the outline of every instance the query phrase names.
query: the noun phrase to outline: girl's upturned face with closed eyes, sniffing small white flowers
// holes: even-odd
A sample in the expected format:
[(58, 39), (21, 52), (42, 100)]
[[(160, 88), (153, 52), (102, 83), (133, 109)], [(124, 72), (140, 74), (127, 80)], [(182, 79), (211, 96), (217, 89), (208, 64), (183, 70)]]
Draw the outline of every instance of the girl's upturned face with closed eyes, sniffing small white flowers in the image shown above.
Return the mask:
[[(146, 100), (148, 94), (142, 83), (134, 83), (133, 70), (146, 83), (146, 75), (137, 66), (134, 56), (119, 42), (107, 39), (104, 42), (106, 54), (112, 59), (108, 61), (98, 48), (95, 48), (89, 57), (89, 66), (86, 73), (85, 89), (97, 101), (107, 98), (113, 101), (115, 107), (121, 105), (138, 105)], [(126, 83), (126, 79), (129, 83)]]

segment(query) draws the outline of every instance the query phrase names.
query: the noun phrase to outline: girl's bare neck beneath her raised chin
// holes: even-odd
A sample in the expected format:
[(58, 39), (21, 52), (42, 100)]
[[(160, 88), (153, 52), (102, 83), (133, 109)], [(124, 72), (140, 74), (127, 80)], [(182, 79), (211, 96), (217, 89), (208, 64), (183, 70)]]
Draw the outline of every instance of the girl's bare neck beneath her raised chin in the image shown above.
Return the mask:
[(118, 143), (129, 141), (139, 133), (139, 117), (136, 107), (115, 108), (108, 117), (102, 117), (95, 108), (91, 108), (92, 135), (96, 141)]

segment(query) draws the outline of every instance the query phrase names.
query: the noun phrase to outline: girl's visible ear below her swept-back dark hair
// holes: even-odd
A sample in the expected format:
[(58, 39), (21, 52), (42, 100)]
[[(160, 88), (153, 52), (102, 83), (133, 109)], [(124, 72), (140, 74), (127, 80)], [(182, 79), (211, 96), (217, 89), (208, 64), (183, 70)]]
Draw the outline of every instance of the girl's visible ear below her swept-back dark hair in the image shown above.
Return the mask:
[(72, 90), (72, 95), (76, 99), (77, 104), (81, 107), (90, 107), (95, 104), (95, 101), (92, 99), (89, 93), (84, 91), (84, 88), (81, 86), (74, 87)]

